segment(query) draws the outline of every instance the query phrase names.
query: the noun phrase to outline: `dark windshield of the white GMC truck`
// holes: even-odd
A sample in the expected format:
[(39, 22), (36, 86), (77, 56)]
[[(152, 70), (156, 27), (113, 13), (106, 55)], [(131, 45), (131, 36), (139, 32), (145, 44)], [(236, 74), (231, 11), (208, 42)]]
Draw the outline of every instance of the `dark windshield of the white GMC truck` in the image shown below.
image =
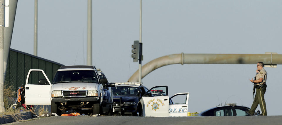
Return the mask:
[(98, 79), (93, 70), (67, 70), (57, 71), (53, 80), (53, 84), (70, 82), (98, 83)]

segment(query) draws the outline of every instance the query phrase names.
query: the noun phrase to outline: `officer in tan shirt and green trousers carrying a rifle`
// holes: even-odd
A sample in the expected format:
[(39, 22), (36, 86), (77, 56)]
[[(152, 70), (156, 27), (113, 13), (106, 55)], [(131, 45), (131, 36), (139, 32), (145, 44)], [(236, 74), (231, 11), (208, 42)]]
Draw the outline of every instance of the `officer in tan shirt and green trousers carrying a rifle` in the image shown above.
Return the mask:
[(256, 84), (256, 96), (253, 100), (252, 107), (249, 111), (247, 111), (248, 114), (253, 115), (256, 108), (259, 106), (261, 107), (261, 116), (266, 116), (266, 105), (264, 101), (264, 93), (266, 92), (266, 78), (267, 78), (267, 72), (263, 69), (263, 62), (257, 63), (257, 70), (256, 70), (256, 79), (250, 80), (252, 83)]

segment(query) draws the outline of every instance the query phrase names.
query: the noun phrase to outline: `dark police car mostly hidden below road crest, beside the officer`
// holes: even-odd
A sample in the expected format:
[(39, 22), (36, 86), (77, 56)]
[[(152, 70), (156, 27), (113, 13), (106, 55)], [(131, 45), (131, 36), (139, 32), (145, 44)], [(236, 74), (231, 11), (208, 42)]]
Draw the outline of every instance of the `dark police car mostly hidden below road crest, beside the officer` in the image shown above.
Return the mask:
[[(236, 103), (228, 103), (225, 106), (216, 106), (201, 112), (198, 116), (250, 116), (246, 111), (250, 108), (245, 106), (236, 106)], [(257, 111), (255, 115), (260, 114)]]

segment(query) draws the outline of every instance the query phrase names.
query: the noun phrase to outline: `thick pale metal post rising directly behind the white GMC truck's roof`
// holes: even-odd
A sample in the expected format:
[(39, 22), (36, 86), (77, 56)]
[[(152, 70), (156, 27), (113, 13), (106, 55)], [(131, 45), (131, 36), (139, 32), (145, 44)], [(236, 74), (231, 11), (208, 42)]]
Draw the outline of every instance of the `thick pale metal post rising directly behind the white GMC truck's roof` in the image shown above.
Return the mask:
[(87, 3), (87, 65), (92, 65), (92, 0)]

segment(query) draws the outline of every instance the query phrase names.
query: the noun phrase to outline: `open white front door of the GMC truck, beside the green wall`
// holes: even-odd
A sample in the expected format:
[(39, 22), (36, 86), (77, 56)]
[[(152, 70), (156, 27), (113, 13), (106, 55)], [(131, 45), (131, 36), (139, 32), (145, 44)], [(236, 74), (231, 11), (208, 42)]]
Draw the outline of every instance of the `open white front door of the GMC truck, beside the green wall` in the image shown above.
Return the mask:
[[(45, 79), (45, 84), (39, 80)], [(43, 70), (31, 69), (25, 84), (26, 105), (51, 105), (51, 83)]]

